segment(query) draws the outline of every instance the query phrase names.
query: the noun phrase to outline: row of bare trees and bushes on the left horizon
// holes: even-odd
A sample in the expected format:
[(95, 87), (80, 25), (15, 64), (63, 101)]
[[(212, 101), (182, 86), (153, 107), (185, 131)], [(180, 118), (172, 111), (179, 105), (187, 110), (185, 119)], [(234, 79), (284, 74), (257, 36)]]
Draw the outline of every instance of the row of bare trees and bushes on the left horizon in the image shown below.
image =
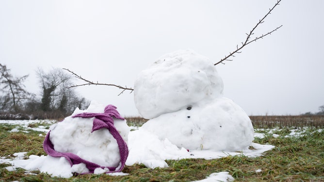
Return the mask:
[(76, 107), (89, 105), (73, 88), (72, 75), (60, 68), (45, 72), (38, 68), (39, 94), (27, 91), (24, 81), (29, 75), (14, 76), (0, 63), (0, 119), (61, 119)]

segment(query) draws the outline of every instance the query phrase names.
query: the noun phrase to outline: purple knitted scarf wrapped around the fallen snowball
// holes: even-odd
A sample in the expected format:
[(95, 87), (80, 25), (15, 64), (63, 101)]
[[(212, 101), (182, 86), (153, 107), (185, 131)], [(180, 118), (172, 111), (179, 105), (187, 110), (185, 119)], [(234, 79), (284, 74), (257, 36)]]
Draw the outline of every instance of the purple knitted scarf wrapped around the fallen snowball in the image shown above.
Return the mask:
[[(105, 107), (104, 113), (81, 113), (77, 114), (75, 116), (72, 116), (73, 118), (75, 117), (81, 117), (81, 118), (93, 118), (95, 117), (93, 121), (93, 127), (91, 130), (91, 133), (94, 131), (97, 131), (101, 128), (107, 128), (109, 132), (113, 135), (113, 137), (117, 140), (118, 148), (119, 148), (119, 154), (120, 154), (120, 163), (121, 167), (116, 170), (116, 167), (102, 167), (99, 166), (95, 163), (92, 163), (90, 161), (84, 160), (78, 155), (70, 152), (57, 152), (54, 150), (54, 145), (49, 139), (49, 133), (45, 137), (44, 143), (43, 143), (43, 148), (44, 151), (49, 154), (52, 157), (65, 157), (65, 159), (70, 163), (70, 165), (75, 165), (75, 164), (80, 164), (84, 163), (86, 167), (89, 169), (89, 173), (93, 173), (94, 170), (98, 167), (100, 168), (108, 168), (109, 171), (106, 173), (112, 173), (112, 172), (120, 172), (122, 169), (125, 167), (125, 162), (128, 157), (128, 148), (126, 142), (123, 140), (123, 138), (120, 136), (119, 132), (113, 125), (113, 118), (115, 117), (117, 119), (124, 120), (123, 117), (121, 117), (116, 110), (116, 106), (113, 105), (108, 105)], [(87, 174), (87, 173), (82, 173), (82, 174)]]

